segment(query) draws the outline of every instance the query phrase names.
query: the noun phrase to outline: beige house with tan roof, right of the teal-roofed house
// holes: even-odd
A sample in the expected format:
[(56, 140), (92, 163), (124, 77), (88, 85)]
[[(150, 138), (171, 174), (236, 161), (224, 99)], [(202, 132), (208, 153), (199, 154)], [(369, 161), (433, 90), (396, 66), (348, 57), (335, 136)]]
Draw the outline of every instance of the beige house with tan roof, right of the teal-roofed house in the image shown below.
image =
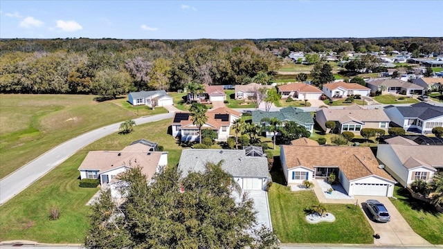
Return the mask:
[(316, 122), (326, 131), (326, 122), (336, 122), (334, 133), (352, 131), (360, 133), (363, 128), (377, 128), (388, 131), (390, 119), (383, 109), (364, 109), (352, 104), (343, 109), (318, 109), (315, 116)]

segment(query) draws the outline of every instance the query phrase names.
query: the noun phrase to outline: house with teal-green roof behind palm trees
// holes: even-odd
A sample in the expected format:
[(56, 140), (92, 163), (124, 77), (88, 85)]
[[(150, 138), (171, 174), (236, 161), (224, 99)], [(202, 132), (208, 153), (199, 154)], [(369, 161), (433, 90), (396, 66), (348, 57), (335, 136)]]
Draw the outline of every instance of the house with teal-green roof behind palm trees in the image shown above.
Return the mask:
[[(303, 111), (302, 109), (296, 107), (285, 107), (280, 109), (280, 111), (262, 111), (256, 110), (252, 111), (252, 122), (255, 124), (263, 124), (262, 120), (264, 118), (277, 118), (282, 121), (282, 126), (284, 122), (294, 121), (305, 127), (307, 131), (314, 132), (314, 119), (311, 113), (308, 111)], [(266, 131), (266, 137), (273, 136), (273, 133)]]

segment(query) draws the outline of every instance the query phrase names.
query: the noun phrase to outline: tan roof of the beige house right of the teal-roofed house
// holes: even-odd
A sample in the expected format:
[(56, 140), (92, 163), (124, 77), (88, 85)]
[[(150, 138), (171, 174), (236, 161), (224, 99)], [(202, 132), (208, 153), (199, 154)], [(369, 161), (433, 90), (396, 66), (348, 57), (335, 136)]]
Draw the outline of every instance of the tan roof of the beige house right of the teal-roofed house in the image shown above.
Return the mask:
[(319, 109), (317, 113), (323, 113), (326, 120), (360, 122), (390, 122), (390, 118), (382, 109)]

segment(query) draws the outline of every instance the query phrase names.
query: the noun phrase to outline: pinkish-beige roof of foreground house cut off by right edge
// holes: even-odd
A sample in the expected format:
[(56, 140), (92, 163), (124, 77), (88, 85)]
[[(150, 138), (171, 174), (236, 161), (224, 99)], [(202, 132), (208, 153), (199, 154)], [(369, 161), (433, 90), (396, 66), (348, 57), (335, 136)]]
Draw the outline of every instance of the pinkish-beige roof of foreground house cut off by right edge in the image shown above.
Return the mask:
[(429, 146), (396, 143), (389, 144), (389, 146), (406, 169), (413, 169), (419, 166), (425, 166), (431, 169), (435, 169), (434, 167), (443, 167), (443, 145)]

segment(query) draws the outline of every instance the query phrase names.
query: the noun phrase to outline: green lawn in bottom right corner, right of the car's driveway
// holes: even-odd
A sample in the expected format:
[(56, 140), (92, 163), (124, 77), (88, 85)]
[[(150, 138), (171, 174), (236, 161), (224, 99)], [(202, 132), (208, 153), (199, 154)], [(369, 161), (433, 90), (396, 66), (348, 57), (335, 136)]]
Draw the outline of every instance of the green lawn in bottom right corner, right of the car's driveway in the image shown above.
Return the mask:
[(397, 200), (391, 201), (414, 232), (430, 243), (442, 245), (443, 214), (437, 212), (433, 205), (413, 199), (404, 187), (395, 186), (394, 190)]

